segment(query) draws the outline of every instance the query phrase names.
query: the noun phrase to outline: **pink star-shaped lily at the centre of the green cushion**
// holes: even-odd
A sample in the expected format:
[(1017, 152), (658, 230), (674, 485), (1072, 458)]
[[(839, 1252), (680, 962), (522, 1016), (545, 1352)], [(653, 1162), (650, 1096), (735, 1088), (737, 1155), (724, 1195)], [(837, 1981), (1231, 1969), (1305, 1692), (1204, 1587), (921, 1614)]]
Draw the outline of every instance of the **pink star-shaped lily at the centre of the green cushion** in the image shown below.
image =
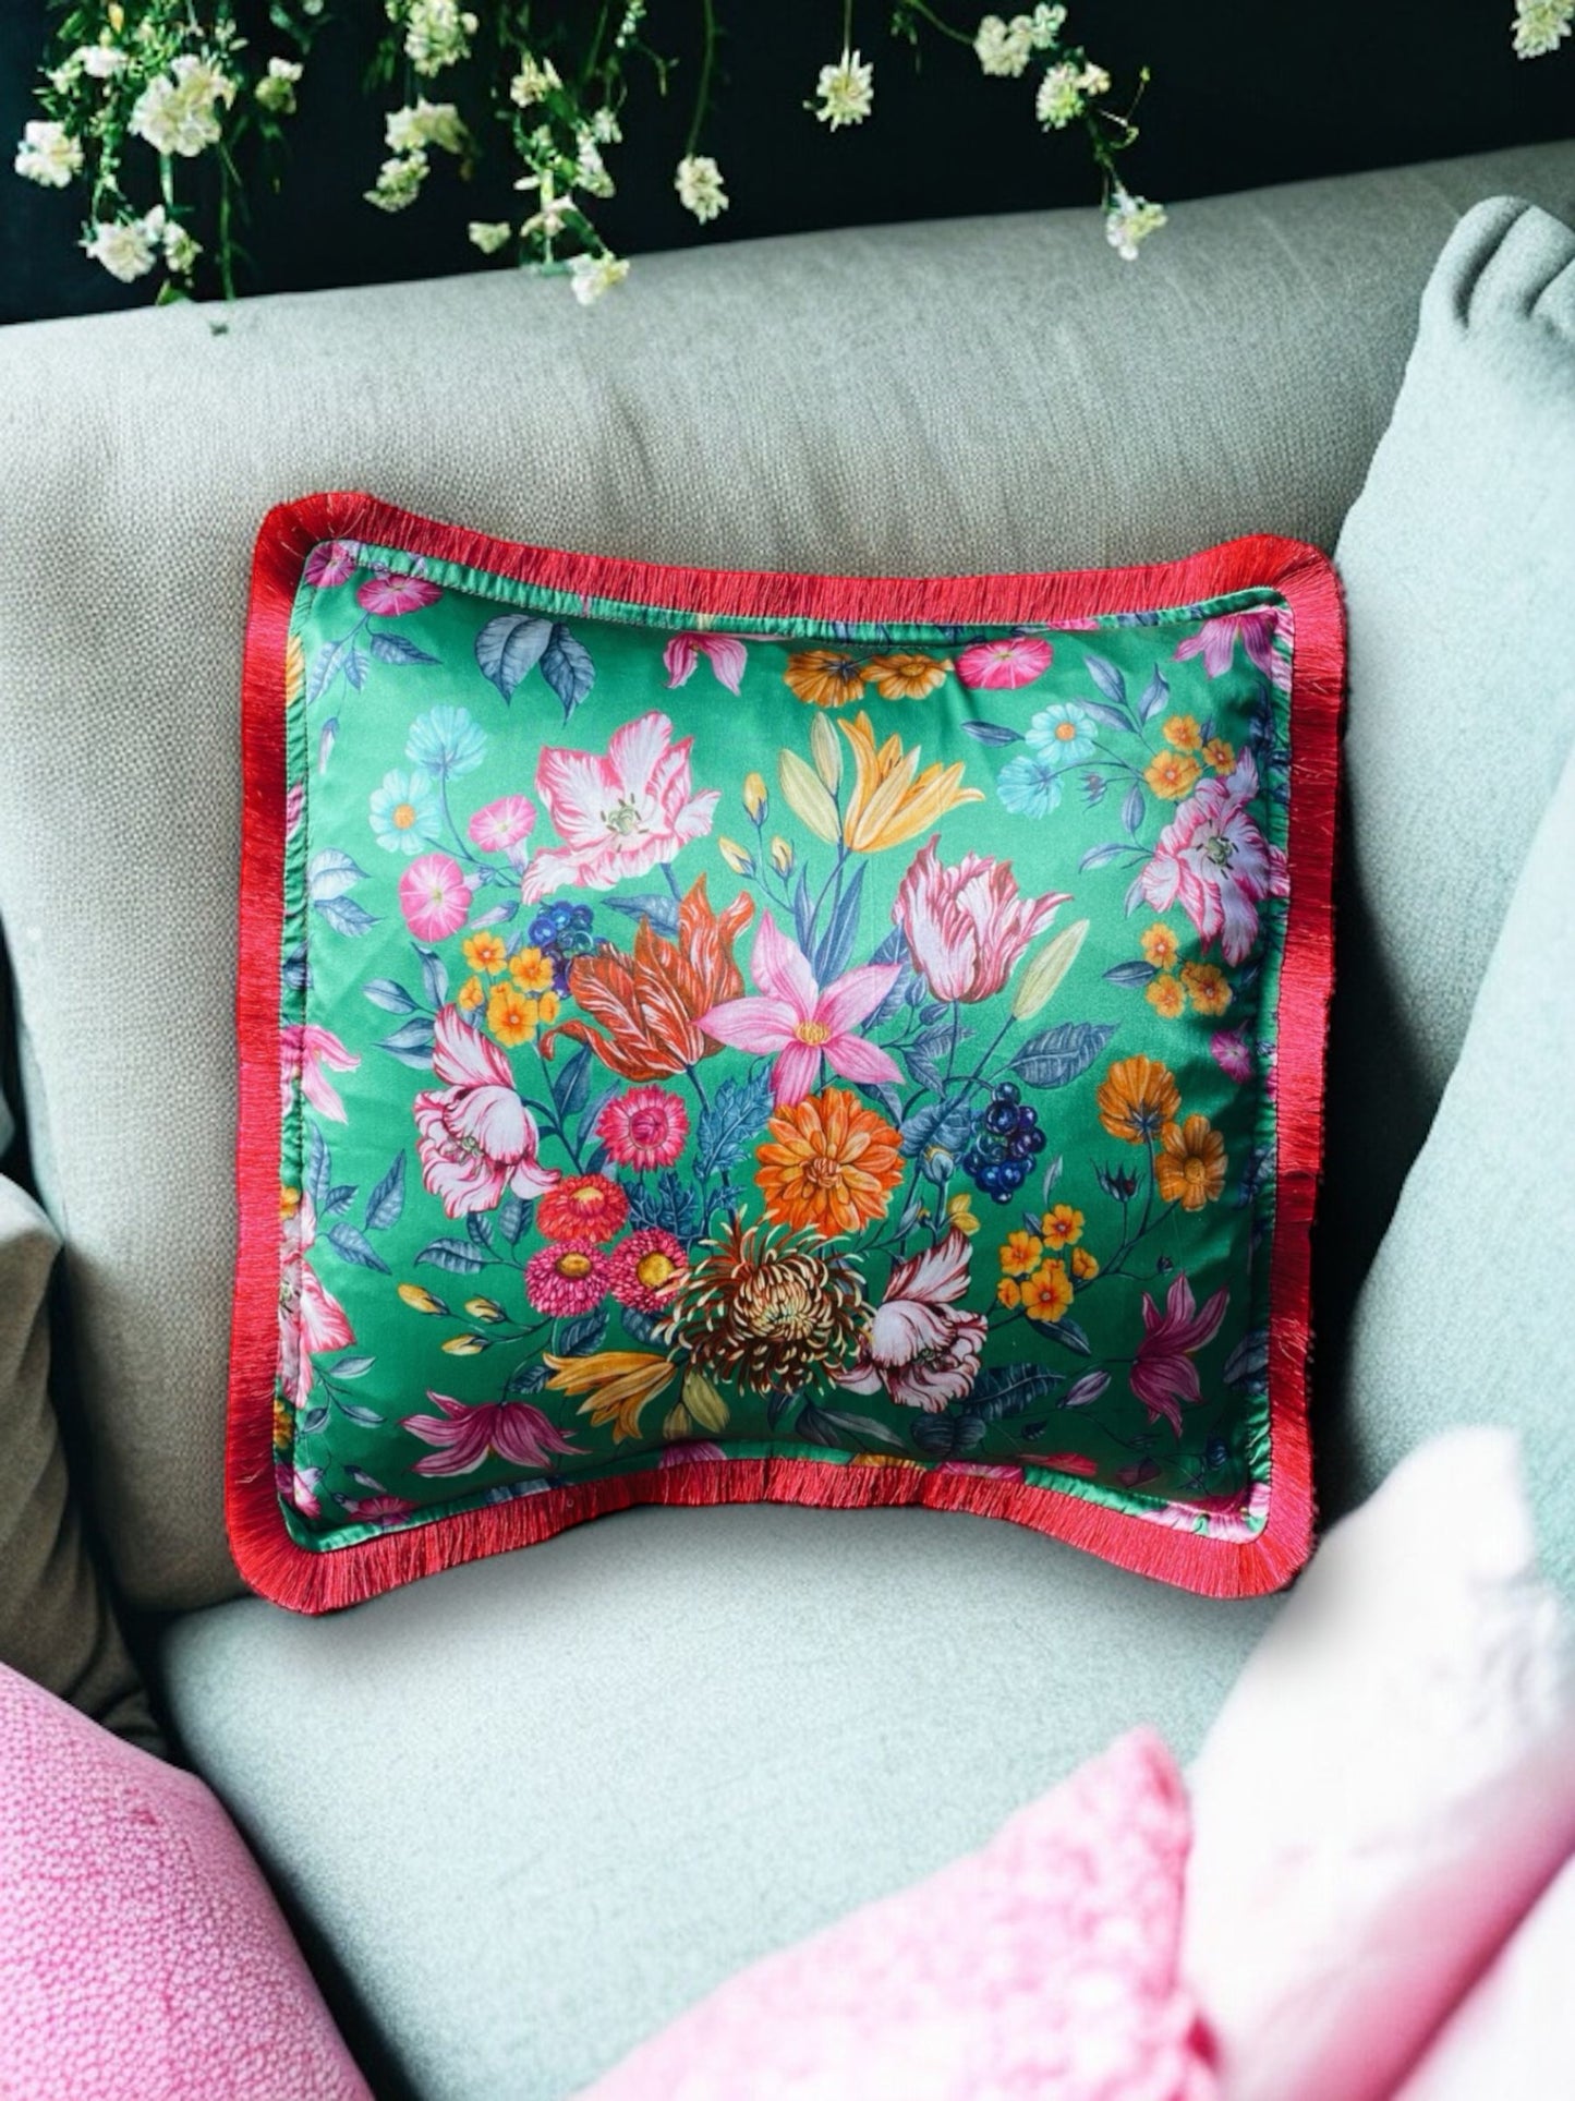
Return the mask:
[(821, 1059), (844, 1080), (901, 1080), (897, 1061), (853, 1032), (886, 998), (897, 962), (867, 962), (834, 985), (815, 983), (804, 950), (766, 912), (750, 958), (764, 998), (722, 1000), (699, 1017), (706, 1036), (735, 1050), (777, 1053), (771, 1099), (779, 1109), (813, 1093)]

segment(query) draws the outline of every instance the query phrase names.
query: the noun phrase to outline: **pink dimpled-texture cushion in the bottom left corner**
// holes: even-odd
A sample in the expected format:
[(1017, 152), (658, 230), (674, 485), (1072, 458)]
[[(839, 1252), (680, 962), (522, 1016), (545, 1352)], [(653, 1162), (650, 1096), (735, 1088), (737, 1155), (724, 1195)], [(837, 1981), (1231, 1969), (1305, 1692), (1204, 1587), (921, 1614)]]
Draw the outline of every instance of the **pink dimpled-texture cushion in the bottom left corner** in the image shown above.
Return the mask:
[(218, 1798), (4, 1666), (0, 2009), (27, 2101), (370, 2101)]

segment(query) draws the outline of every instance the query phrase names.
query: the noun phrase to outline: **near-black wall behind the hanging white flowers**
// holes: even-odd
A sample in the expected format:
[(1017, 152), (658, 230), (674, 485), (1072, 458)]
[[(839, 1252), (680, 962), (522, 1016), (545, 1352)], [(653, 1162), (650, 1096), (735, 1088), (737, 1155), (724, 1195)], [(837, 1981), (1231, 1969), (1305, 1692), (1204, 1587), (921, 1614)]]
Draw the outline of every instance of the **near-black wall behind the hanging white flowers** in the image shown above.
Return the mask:
[[(951, 0), (956, 8), (956, 0)], [(1018, 0), (1027, 4), (1027, 0)], [(995, 0), (1010, 13), (1010, 0)], [(972, 23), (985, 0), (962, 0)], [(361, 204), (382, 158), (380, 97), (363, 86), (382, 17), (378, 0), (342, 0), (344, 21), (319, 42), (292, 126), (288, 183), (258, 191), (242, 290), (443, 275), (479, 267), (468, 219), (502, 219), (517, 200), (502, 153), (462, 185), (449, 166), (410, 212)], [(985, 80), (970, 50), (926, 40), (922, 71), (886, 36), (886, 0), (863, 0), (855, 32), (876, 61), (876, 113), (827, 134), (802, 109), (836, 55), (836, 0), (722, 0), (716, 116), (701, 141), (733, 200), (699, 233), (672, 195), (695, 59), (695, 0), (653, 0), (651, 38), (685, 63), (666, 103), (649, 78), (626, 111), (630, 145), (611, 155), (620, 195), (598, 212), (613, 246), (638, 252), (724, 233), (741, 240), (811, 227), (1027, 210), (1094, 197), (1075, 137), (1044, 137), (1027, 80)], [(265, 8), (258, 6), (262, 17)], [(1071, 27), (1117, 88), (1153, 67), (1134, 189), (1166, 202), (1258, 183), (1396, 166), (1447, 153), (1564, 137), (1575, 109), (1575, 46), (1518, 61), (1510, 0), (1073, 0)], [(351, 19), (355, 17), (355, 19)], [(8, 172), (10, 141), (32, 111), (44, 48), (44, 0), (0, 0), (0, 321), (139, 305), (76, 252), (80, 202)], [(271, 50), (269, 32), (258, 32)], [(445, 95), (439, 82), (428, 92)], [(502, 145), (502, 141), (500, 141)], [(153, 202), (149, 193), (147, 202)], [(1090, 221), (1090, 237), (1098, 237)]]

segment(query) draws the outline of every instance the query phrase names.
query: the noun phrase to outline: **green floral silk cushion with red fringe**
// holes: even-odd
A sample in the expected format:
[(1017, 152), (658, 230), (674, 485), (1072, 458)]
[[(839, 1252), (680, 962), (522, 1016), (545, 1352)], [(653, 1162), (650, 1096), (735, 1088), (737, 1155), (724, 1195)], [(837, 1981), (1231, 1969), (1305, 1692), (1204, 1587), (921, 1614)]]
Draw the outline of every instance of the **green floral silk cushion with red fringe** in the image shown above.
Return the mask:
[(779, 1498), (1283, 1582), (1340, 649), (1285, 540), (920, 582), (275, 511), (246, 1578)]

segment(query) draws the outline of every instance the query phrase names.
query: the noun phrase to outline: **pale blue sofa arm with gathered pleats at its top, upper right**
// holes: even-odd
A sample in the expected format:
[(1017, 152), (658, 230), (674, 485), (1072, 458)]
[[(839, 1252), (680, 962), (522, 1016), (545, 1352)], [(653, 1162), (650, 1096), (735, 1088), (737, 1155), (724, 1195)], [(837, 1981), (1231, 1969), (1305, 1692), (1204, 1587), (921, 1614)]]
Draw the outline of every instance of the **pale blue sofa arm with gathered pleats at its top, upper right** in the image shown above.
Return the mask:
[[(1499, 197), (1457, 227), (1336, 563), (1350, 698), (1340, 1147), (1321, 1210), (1331, 1347), (1575, 740), (1575, 233), (1558, 219)], [(1495, 756), (1474, 763), (1485, 740)]]

